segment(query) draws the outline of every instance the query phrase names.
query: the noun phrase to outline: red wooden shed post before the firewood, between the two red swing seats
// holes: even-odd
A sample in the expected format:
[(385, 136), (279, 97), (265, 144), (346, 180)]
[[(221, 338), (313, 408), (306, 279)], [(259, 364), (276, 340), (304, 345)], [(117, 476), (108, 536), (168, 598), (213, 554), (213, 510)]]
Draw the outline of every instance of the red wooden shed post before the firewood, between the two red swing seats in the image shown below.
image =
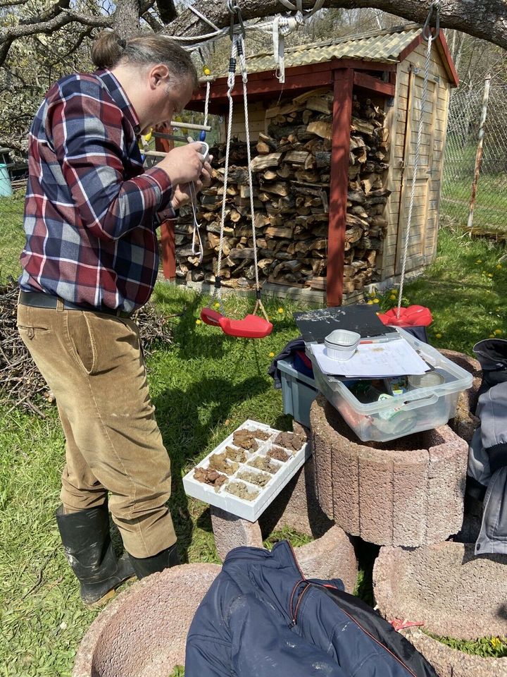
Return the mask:
[(339, 68), (334, 71), (330, 218), (327, 239), (327, 305), (342, 305), (343, 300), (352, 87), (352, 68)]

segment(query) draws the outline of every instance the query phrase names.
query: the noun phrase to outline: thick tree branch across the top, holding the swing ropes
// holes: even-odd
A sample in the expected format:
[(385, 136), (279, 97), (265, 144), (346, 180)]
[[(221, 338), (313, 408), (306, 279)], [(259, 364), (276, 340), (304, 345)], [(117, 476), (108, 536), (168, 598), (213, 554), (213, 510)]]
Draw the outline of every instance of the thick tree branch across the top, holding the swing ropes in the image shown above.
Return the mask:
[[(240, 0), (243, 19), (254, 19), (284, 13), (287, 9), (279, 0)], [(311, 9), (314, 0), (303, 0), (303, 8)], [(326, 0), (327, 8), (381, 9), (415, 23), (423, 24), (430, 8), (429, 0)], [(225, 2), (199, 0), (195, 7), (219, 28), (230, 23)], [(440, 9), (441, 28), (454, 28), (507, 49), (507, 3), (505, 0), (447, 0)], [(163, 31), (165, 35), (203, 35), (210, 27), (189, 9), (185, 9)]]

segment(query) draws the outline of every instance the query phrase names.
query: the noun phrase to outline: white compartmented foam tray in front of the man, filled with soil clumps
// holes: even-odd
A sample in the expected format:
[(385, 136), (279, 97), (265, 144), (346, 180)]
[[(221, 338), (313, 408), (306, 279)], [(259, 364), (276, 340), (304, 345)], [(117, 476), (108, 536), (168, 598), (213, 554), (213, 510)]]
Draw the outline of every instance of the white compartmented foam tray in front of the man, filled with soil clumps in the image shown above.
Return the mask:
[[(237, 430), (242, 429), (262, 429), (265, 432), (270, 433), (270, 438), (266, 441), (258, 440), (258, 449), (256, 451), (248, 452), (247, 451), (247, 461), (246, 463), (239, 463), (239, 467), (233, 475), (228, 477), (228, 482), (242, 482), (246, 485), (249, 491), (254, 492), (258, 491), (257, 496), (252, 501), (247, 501), (246, 499), (241, 499), (239, 496), (234, 496), (234, 494), (229, 494), (227, 492), (227, 486), (223, 485), (215, 491), (214, 487), (211, 487), (209, 484), (204, 484), (204, 482), (199, 482), (194, 479), (194, 472), (196, 468), (208, 468), (209, 467), (209, 458), (214, 453), (221, 453), (225, 450), (226, 446), (234, 447), (232, 444), (232, 437), (234, 433), (230, 434), (223, 442), (208, 453), (206, 458), (203, 458), (201, 463), (198, 463), (195, 468), (187, 472), (187, 475), (183, 477), (183, 487), (185, 493), (188, 496), (194, 496), (195, 499), (204, 501), (205, 503), (210, 504), (211, 506), (216, 506), (217, 508), (222, 508), (232, 515), (237, 515), (242, 517), (245, 520), (250, 522), (255, 522), (258, 516), (265, 511), (265, 508), (275, 499), (275, 497), (280, 494), (285, 484), (289, 482), (291, 477), (294, 476), (296, 470), (301, 468), (301, 465), (306, 461), (306, 458), (311, 455), (311, 448), (308, 442), (301, 446), (301, 449), (291, 453), (287, 461), (277, 461), (272, 459), (273, 465), (277, 467), (277, 472), (273, 474), (273, 477), (269, 480), (264, 487), (258, 487), (256, 484), (251, 484), (246, 480), (242, 480), (238, 475), (242, 475), (244, 470), (251, 470), (253, 472), (264, 472), (261, 470), (256, 470), (252, 468), (251, 465), (248, 465), (249, 461), (252, 461), (257, 456), (266, 456), (268, 451), (272, 446), (281, 446), (280, 444), (273, 444), (275, 438), (280, 434), (280, 430), (271, 428), (265, 423), (258, 423), (251, 419), (248, 419), (244, 422), (243, 425), (240, 425)], [(236, 431), (234, 431), (236, 432)], [(286, 450), (289, 453), (288, 450)], [(268, 473), (269, 474), (269, 473)]]

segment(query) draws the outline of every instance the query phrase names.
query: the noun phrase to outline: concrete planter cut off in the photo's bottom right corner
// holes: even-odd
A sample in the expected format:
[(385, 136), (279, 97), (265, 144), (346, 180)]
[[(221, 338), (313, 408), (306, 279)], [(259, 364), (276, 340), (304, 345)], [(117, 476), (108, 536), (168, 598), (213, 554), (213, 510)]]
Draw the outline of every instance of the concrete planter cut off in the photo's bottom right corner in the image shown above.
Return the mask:
[(451, 649), (421, 630), (402, 630), (439, 677), (507, 677), (507, 658), (482, 658)]

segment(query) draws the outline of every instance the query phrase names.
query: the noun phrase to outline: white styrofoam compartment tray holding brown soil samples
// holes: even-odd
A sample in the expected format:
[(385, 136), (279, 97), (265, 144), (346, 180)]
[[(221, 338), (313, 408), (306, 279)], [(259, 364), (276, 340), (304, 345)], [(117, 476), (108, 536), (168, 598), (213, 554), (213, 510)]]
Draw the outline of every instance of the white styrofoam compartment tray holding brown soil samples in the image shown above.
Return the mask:
[[(263, 430), (269, 434), (266, 440), (256, 440), (258, 449), (249, 451), (241, 449), (233, 444), (232, 439), (234, 433), (239, 430)], [(280, 434), (280, 430), (271, 428), (265, 423), (258, 423), (251, 419), (246, 420), (243, 425), (240, 425), (232, 434), (229, 435), (223, 442), (213, 449), (206, 458), (203, 458), (201, 463), (198, 463), (195, 468), (187, 472), (183, 477), (183, 487), (188, 496), (193, 496), (195, 499), (204, 501), (211, 506), (222, 508), (232, 515), (242, 517), (250, 522), (255, 522), (258, 516), (265, 511), (265, 508), (275, 499), (294, 476), (296, 470), (301, 468), (301, 465), (310, 456), (310, 445), (305, 442), (300, 449), (292, 451), (284, 448), (280, 444), (275, 444), (275, 439)], [(211, 484), (206, 484), (196, 480), (194, 474), (197, 468), (204, 468), (207, 470), (210, 466), (210, 458), (215, 453), (222, 453), (226, 447), (244, 456), (244, 463), (231, 464), (228, 468), (227, 481), (220, 487), (213, 487)], [(268, 451), (273, 447), (280, 447), (287, 453), (287, 461), (279, 461), (276, 458), (268, 456)], [(241, 454), (244, 451), (244, 454)], [(236, 467), (237, 465), (237, 467)], [(217, 472), (220, 472), (218, 470)], [(221, 475), (225, 474), (220, 472)], [(258, 477), (261, 484), (255, 484), (249, 480), (253, 477)], [(231, 493), (239, 484), (240, 491), (248, 495), (249, 499)]]

